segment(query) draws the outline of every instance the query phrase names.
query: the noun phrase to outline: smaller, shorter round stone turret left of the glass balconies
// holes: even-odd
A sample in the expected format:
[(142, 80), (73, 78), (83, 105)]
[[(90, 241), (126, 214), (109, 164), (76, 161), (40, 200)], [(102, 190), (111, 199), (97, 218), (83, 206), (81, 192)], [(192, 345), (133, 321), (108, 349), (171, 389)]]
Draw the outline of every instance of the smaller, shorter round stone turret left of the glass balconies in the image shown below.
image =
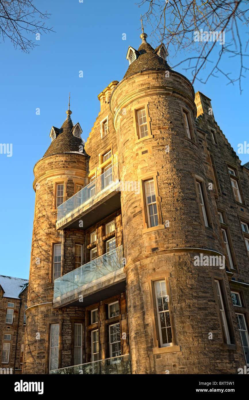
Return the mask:
[[(76, 184), (85, 186), (86, 154), (84, 150), (80, 151), (80, 146), (84, 149), (84, 144), (81, 138), (73, 136), (73, 127), (68, 116), (60, 130), (54, 128), (58, 136), (52, 136), (50, 147), (34, 166), (36, 199), (26, 310), (24, 374), (46, 374), (50, 369), (58, 368), (56, 363), (52, 368), (50, 359), (51, 324), (60, 326), (62, 341), (58, 351), (61, 367), (73, 365), (72, 318), (84, 320), (82, 308), (54, 309), (52, 304), (54, 279), (75, 268), (73, 243), (83, 243), (85, 240), (84, 231), (56, 230), (58, 202), (65, 202), (73, 196)], [(54, 258), (56, 251), (58, 257)], [(64, 254), (67, 255), (66, 260)], [(54, 260), (59, 263), (56, 267)]]

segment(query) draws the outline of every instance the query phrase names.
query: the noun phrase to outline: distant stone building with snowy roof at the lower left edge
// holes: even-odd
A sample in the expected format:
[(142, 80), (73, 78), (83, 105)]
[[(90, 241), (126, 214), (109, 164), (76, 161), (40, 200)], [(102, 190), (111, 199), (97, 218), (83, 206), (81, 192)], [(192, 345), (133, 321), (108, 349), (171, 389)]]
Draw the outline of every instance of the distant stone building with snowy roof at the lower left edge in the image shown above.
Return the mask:
[(0, 374), (21, 374), (28, 280), (0, 275)]

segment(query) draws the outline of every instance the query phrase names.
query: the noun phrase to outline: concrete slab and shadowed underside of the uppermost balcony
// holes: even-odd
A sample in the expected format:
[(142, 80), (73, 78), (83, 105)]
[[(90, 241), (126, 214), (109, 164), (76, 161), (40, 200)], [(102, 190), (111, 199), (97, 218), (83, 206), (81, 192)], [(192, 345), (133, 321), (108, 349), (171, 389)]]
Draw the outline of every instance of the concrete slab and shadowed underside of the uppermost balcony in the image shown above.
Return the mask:
[[(58, 221), (56, 229), (72, 228), (86, 230), (110, 214), (120, 210), (120, 192), (116, 191), (115, 188), (104, 192), (87, 204), (83, 204), (72, 215)], [(83, 226), (82, 223), (80, 224), (80, 220), (83, 221)]]

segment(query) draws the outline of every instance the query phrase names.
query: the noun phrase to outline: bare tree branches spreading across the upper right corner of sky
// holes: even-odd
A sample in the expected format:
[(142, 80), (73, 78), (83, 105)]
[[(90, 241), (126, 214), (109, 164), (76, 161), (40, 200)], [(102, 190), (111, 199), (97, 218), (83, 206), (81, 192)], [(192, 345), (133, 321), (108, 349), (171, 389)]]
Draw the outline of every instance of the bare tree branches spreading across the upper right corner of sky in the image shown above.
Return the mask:
[[(206, 83), (210, 76), (223, 75), (228, 84), (238, 82), (242, 91), (241, 79), (248, 70), (244, 60), (249, 55), (246, 53), (249, 36), (245, 32), (247, 38), (241, 40), (241, 34), (249, 23), (249, 0), (141, 0), (138, 6), (147, 7), (143, 22), (151, 27), (153, 42), (164, 42), (167, 50), (170, 47), (172, 57), (179, 52), (195, 53), (173, 68), (187, 63), (185, 70), (190, 70), (192, 83), (195, 80)], [(222, 40), (225, 35), (230, 42)], [(235, 64), (233, 77), (220, 66), (221, 60), (229, 55), (237, 57), (240, 64)], [(209, 67), (210, 70), (203, 72)]]

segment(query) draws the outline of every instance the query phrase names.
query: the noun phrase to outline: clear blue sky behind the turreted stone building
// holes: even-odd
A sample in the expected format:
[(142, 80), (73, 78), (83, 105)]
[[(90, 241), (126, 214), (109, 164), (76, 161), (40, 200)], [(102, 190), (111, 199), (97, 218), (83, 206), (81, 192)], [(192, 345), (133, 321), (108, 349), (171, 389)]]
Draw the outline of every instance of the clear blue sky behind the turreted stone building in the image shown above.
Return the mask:
[[(55, 33), (44, 34), (39, 46), (24, 54), (8, 41), (0, 43), (2, 62), (1, 143), (12, 143), (12, 157), (0, 154), (1, 240), (0, 274), (27, 278), (30, 267), (34, 218), (34, 164), (50, 145), (51, 126), (60, 128), (66, 119), (68, 93), (74, 123), (80, 122), (85, 140), (100, 111), (98, 94), (112, 80), (120, 81), (127, 68), (129, 45), (138, 48), (141, 40), (140, 13), (134, 1), (43, 0), (34, 2), (51, 15), (48, 26)], [(150, 42), (150, 31), (147, 41)], [(126, 40), (122, 40), (122, 34)], [(170, 53), (170, 49), (169, 49)], [(171, 60), (171, 66), (183, 59)], [(223, 67), (238, 68), (238, 60), (226, 58)], [(175, 68), (191, 80), (189, 72)], [(79, 78), (82, 70), (84, 77)], [(215, 119), (237, 151), (248, 140), (248, 79), (243, 93), (238, 86), (226, 86), (223, 77), (194, 88), (212, 100)], [(36, 115), (40, 108), (40, 115)], [(239, 155), (242, 164), (249, 154)]]

